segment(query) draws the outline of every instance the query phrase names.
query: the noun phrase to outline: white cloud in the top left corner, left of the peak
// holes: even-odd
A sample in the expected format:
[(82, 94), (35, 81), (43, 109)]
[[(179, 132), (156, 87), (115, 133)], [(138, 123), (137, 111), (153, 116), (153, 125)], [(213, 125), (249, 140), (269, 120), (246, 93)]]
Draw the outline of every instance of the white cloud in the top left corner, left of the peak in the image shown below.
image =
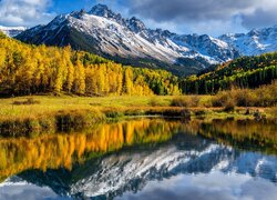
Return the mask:
[(54, 17), (48, 12), (52, 0), (1, 0), (0, 24), (32, 27), (47, 23)]

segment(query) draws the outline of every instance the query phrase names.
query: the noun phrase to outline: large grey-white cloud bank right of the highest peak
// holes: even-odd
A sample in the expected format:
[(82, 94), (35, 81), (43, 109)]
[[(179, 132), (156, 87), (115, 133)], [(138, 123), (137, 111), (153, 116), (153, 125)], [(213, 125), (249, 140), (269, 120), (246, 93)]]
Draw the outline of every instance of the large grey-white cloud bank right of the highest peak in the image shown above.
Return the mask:
[(122, 4), (130, 14), (185, 33), (218, 36), (277, 23), (276, 0), (124, 0)]

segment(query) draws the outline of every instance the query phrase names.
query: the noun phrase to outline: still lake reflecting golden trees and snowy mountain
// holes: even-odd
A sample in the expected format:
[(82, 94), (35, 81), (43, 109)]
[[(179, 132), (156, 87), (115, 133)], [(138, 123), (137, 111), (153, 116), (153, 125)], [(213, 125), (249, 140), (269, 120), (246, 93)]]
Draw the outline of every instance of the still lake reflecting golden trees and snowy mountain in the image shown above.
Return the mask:
[(0, 139), (0, 199), (277, 199), (273, 122), (130, 119)]

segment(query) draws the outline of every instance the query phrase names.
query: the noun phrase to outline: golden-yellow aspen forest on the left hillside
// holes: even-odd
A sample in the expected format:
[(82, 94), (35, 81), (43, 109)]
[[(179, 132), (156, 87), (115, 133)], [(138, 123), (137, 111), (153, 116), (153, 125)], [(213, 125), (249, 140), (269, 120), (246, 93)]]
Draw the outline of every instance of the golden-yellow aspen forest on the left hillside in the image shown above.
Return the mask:
[(178, 79), (162, 70), (123, 67), (70, 47), (29, 46), (0, 33), (0, 96), (35, 93), (178, 94)]

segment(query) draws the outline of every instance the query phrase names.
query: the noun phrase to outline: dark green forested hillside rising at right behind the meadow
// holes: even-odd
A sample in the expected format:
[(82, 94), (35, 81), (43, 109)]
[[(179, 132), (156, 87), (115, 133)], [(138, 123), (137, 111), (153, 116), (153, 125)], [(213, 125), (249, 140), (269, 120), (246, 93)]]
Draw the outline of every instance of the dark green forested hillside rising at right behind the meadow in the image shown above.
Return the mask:
[(217, 93), (220, 90), (258, 88), (277, 79), (277, 52), (243, 57), (179, 83), (184, 93)]

